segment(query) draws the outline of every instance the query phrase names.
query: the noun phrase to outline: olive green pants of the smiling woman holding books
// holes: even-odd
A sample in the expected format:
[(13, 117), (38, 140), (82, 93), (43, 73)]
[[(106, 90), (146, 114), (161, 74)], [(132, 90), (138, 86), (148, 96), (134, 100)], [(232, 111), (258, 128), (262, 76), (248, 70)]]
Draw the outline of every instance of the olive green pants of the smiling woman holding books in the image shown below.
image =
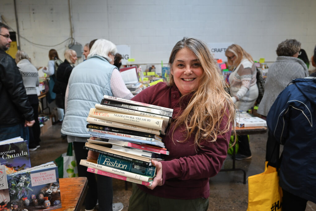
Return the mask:
[(167, 199), (150, 195), (133, 183), (133, 193), (130, 197), (129, 211), (207, 211), (209, 199)]

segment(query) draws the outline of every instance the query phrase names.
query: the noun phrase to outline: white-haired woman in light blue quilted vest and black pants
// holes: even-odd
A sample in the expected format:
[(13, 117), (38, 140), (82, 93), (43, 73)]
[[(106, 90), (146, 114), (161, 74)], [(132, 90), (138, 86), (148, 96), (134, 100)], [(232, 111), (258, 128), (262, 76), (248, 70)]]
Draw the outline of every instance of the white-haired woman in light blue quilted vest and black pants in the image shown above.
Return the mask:
[[(87, 132), (87, 116), (90, 108), (100, 103), (104, 95), (131, 99), (133, 94), (124, 84), (119, 70), (113, 65), (116, 46), (104, 39), (96, 40), (90, 49), (88, 59), (77, 65), (69, 78), (65, 97), (65, 117), (61, 132), (72, 142), (77, 164), (86, 159), (88, 150), (83, 149), (90, 137)], [(87, 172), (78, 165), (79, 177), (88, 178), (86, 210), (93, 210), (99, 199), (99, 210), (122, 210), (122, 203), (112, 203), (112, 178)]]

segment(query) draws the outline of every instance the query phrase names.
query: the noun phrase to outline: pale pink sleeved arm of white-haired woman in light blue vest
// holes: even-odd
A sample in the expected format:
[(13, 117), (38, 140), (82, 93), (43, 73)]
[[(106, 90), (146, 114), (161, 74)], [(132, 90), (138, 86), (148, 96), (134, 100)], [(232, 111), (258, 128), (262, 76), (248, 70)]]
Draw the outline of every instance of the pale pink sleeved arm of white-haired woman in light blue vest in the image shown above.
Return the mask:
[(111, 90), (114, 97), (130, 100), (134, 97), (123, 81), (121, 74), (118, 69), (114, 69), (111, 75)]

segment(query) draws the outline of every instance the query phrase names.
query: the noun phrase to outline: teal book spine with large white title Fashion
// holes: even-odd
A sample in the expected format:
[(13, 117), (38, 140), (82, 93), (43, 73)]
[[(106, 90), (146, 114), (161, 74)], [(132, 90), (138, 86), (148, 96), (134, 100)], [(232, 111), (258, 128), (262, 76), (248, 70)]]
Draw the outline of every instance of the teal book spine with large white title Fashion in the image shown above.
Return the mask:
[(148, 177), (154, 177), (156, 172), (156, 166), (154, 165), (146, 166), (133, 161), (112, 158), (104, 154), (99, 154), (98, 164)]

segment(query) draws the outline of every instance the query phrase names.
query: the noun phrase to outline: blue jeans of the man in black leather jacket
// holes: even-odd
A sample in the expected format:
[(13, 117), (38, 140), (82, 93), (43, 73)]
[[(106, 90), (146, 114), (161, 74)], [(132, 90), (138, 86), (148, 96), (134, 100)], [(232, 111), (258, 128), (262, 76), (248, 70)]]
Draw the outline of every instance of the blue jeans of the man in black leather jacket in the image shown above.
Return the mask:
[(24, 123), (18, 123), (13, 126), (0, 125), (0, 141), (19, 137), (23, 140), (29, 140), (28, 128)]

